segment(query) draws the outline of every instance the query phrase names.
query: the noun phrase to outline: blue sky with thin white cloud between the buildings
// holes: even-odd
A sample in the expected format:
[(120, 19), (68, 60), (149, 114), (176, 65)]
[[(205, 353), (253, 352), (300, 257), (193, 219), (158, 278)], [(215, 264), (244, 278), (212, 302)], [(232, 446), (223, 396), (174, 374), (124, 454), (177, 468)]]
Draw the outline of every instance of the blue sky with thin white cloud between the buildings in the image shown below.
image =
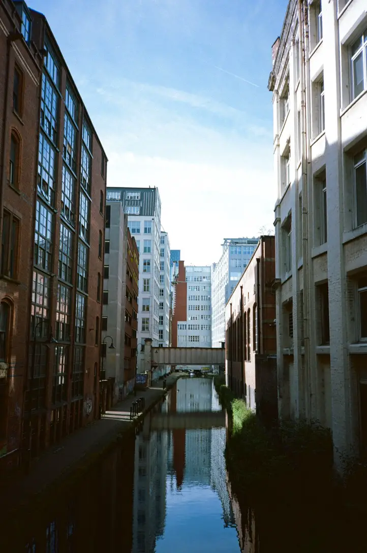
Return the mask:
[(188, 264), (273, 228), (271, 45), (287, 0), (28, 0), (45, 14), (108, 158), (158, 186)]

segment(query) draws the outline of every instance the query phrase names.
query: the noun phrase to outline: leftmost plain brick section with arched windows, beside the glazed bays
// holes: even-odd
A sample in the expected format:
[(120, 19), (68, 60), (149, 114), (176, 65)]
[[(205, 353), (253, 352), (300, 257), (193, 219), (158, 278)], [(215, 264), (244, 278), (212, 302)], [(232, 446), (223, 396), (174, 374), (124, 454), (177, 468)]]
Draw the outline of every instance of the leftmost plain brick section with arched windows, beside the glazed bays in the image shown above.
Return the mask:
[(0, 471), (18, 460), (32, 280), (35, 133), (42, 57), (0, 3)]

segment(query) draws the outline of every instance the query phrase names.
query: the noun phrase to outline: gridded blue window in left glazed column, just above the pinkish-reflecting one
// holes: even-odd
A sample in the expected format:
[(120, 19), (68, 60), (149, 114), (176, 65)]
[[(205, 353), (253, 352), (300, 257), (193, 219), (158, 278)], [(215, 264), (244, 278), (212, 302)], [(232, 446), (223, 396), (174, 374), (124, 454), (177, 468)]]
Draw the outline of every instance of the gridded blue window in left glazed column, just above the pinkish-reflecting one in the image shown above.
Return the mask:
[(34, 264), (45, 270), (52, 268), (53, 213), (37, 200), (34, 231)]

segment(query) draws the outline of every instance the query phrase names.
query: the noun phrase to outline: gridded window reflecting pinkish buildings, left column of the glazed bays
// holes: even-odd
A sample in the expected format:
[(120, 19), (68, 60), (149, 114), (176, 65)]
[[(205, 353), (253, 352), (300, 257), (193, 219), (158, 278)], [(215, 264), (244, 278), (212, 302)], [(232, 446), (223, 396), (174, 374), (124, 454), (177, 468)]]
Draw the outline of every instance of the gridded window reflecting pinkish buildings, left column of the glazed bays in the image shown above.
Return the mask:
[[(32, 306), (31, 306), (31, 334), (34, 334), (34, 328), (40, 321), (49, 321), (49, 298), (50, 298), (50, 279), (37, 271), (33, 271), (32, 279)], [(37, 336), (45, 338), (48, 336), (48, 325), (39, 325)]]

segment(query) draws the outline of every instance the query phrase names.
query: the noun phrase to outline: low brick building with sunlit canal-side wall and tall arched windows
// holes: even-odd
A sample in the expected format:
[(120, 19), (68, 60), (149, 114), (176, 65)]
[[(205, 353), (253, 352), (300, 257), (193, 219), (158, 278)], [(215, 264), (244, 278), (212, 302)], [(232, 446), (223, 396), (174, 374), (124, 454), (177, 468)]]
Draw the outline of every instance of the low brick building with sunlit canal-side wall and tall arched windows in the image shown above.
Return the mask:
[(265, 418), (277, 415), (275, 237), (262, 236), (226, 304), (226, 380)]

